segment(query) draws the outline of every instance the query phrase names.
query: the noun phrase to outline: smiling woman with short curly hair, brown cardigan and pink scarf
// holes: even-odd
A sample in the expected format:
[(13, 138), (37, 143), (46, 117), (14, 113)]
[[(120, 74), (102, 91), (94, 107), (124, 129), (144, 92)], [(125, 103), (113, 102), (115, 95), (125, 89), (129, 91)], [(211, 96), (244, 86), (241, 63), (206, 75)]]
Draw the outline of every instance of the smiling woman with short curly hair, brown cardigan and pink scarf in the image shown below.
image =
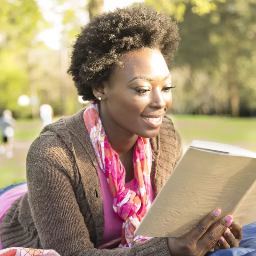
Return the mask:
[[(82, 29), (68, 73), (93, 103), (46, 126), (31, 145), (28, 193), (4, 216), (3, 248), (176, 256), (238, 246), (242, 230), (232, 216), (208, 229), (219, 209), (181, 238), (134, 236), (182, 156), (164, 117), (172, 103), (167, 64), (179, 40), (177, 23), (145, 6), (102, 14)], [(99, 249), (107, 246), (120, 250)]]

